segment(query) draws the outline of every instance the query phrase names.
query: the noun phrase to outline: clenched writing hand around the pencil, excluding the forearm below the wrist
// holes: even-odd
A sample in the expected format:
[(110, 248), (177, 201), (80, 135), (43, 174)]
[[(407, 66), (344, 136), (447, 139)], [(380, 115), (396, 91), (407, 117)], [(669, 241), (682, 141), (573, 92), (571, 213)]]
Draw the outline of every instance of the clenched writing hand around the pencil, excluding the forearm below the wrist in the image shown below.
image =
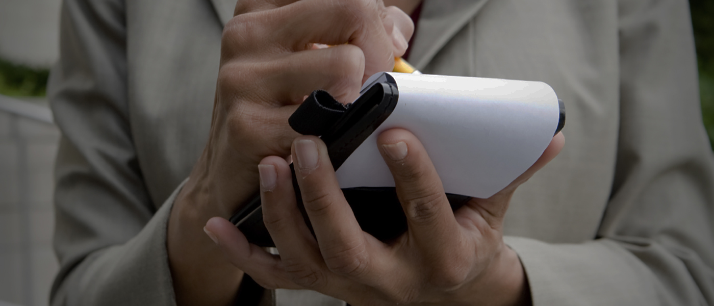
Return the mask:
[(305, 96), (323, 89), (354, 101), (366, 78), (391, 71), (413, 32), (406, 14), (375, 0), (238, 1), (235, 14), (223, 31), (210, 138), (191, 174), (210, 182), (206, 204), (221, 216), (258, 190), (260, 160), (290, 155), (298, 134), (287, 119)]

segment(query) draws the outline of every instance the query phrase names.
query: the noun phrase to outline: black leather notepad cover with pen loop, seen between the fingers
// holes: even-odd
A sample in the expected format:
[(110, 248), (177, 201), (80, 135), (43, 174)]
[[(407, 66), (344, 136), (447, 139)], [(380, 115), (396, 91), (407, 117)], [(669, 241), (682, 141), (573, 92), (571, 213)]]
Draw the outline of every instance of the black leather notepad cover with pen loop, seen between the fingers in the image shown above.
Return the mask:
[[(303, 135), (320, 136), (328, 148), (333, 168), (340, 165), (361, 143), (391, 114), (398, 101), (398, 88), (391, 76), (381, 78), (366, 86), (360, 98), (348, 106), (326, 91), (314, 91), (289, 119), (291, 127)], [(303, 207), (300, 189), (293, 170), (293, 187), (298, 208), (308, 227), (310, 220)], [(342, 190), (362, 230), (382, 241), (397, 238), (407, 229), (406, 217), (394, 188), (345, 188)], [(453, 209), (461, 207), (470, 198), (448, 195)], [(261, 247), (274, 246), (263, 224), (260, 195), (238, 210), (231, 218), (248, 241)]]

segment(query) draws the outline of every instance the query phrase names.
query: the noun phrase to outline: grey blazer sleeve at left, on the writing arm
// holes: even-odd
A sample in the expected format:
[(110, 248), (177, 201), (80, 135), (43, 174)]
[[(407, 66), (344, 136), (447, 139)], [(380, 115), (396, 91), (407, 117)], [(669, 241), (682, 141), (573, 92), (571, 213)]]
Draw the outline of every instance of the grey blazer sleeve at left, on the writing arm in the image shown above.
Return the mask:
[(62, 131), (55, 169), (51, 305), (175, 305), (166, 253), (174, 195), (151, 203), (126, 103), (123, 0), (65, 0), (51, 107)]

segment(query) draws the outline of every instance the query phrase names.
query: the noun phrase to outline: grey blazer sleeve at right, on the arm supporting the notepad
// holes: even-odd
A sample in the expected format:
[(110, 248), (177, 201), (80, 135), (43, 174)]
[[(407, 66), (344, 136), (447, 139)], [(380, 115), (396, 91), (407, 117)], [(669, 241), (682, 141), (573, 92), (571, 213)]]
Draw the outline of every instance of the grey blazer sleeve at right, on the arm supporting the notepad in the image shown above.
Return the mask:
[(714, 163), (686, 1), (618, 5), (615, 182), (582, 244), (506, 238), (534, 305), (714, 305)]

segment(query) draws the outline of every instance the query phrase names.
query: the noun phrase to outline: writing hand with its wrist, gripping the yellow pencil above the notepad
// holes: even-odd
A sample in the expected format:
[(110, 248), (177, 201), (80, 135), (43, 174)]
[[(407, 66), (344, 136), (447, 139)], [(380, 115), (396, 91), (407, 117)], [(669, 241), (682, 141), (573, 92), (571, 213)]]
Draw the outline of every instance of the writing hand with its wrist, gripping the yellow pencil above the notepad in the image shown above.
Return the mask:
[[(242, 272), (203, 233), (258, 190), (257, 165), (287, 158), (288, 117), (316, 89), (348, 103), (373, 73), (391, 71), (413, 33), (381, 0), (241, 0), (226, 24), (206, 148), (171, 211), (169, 262), (179, 305), (227, 304)], [(328, 44), (313, 49), (313, 44)]]

